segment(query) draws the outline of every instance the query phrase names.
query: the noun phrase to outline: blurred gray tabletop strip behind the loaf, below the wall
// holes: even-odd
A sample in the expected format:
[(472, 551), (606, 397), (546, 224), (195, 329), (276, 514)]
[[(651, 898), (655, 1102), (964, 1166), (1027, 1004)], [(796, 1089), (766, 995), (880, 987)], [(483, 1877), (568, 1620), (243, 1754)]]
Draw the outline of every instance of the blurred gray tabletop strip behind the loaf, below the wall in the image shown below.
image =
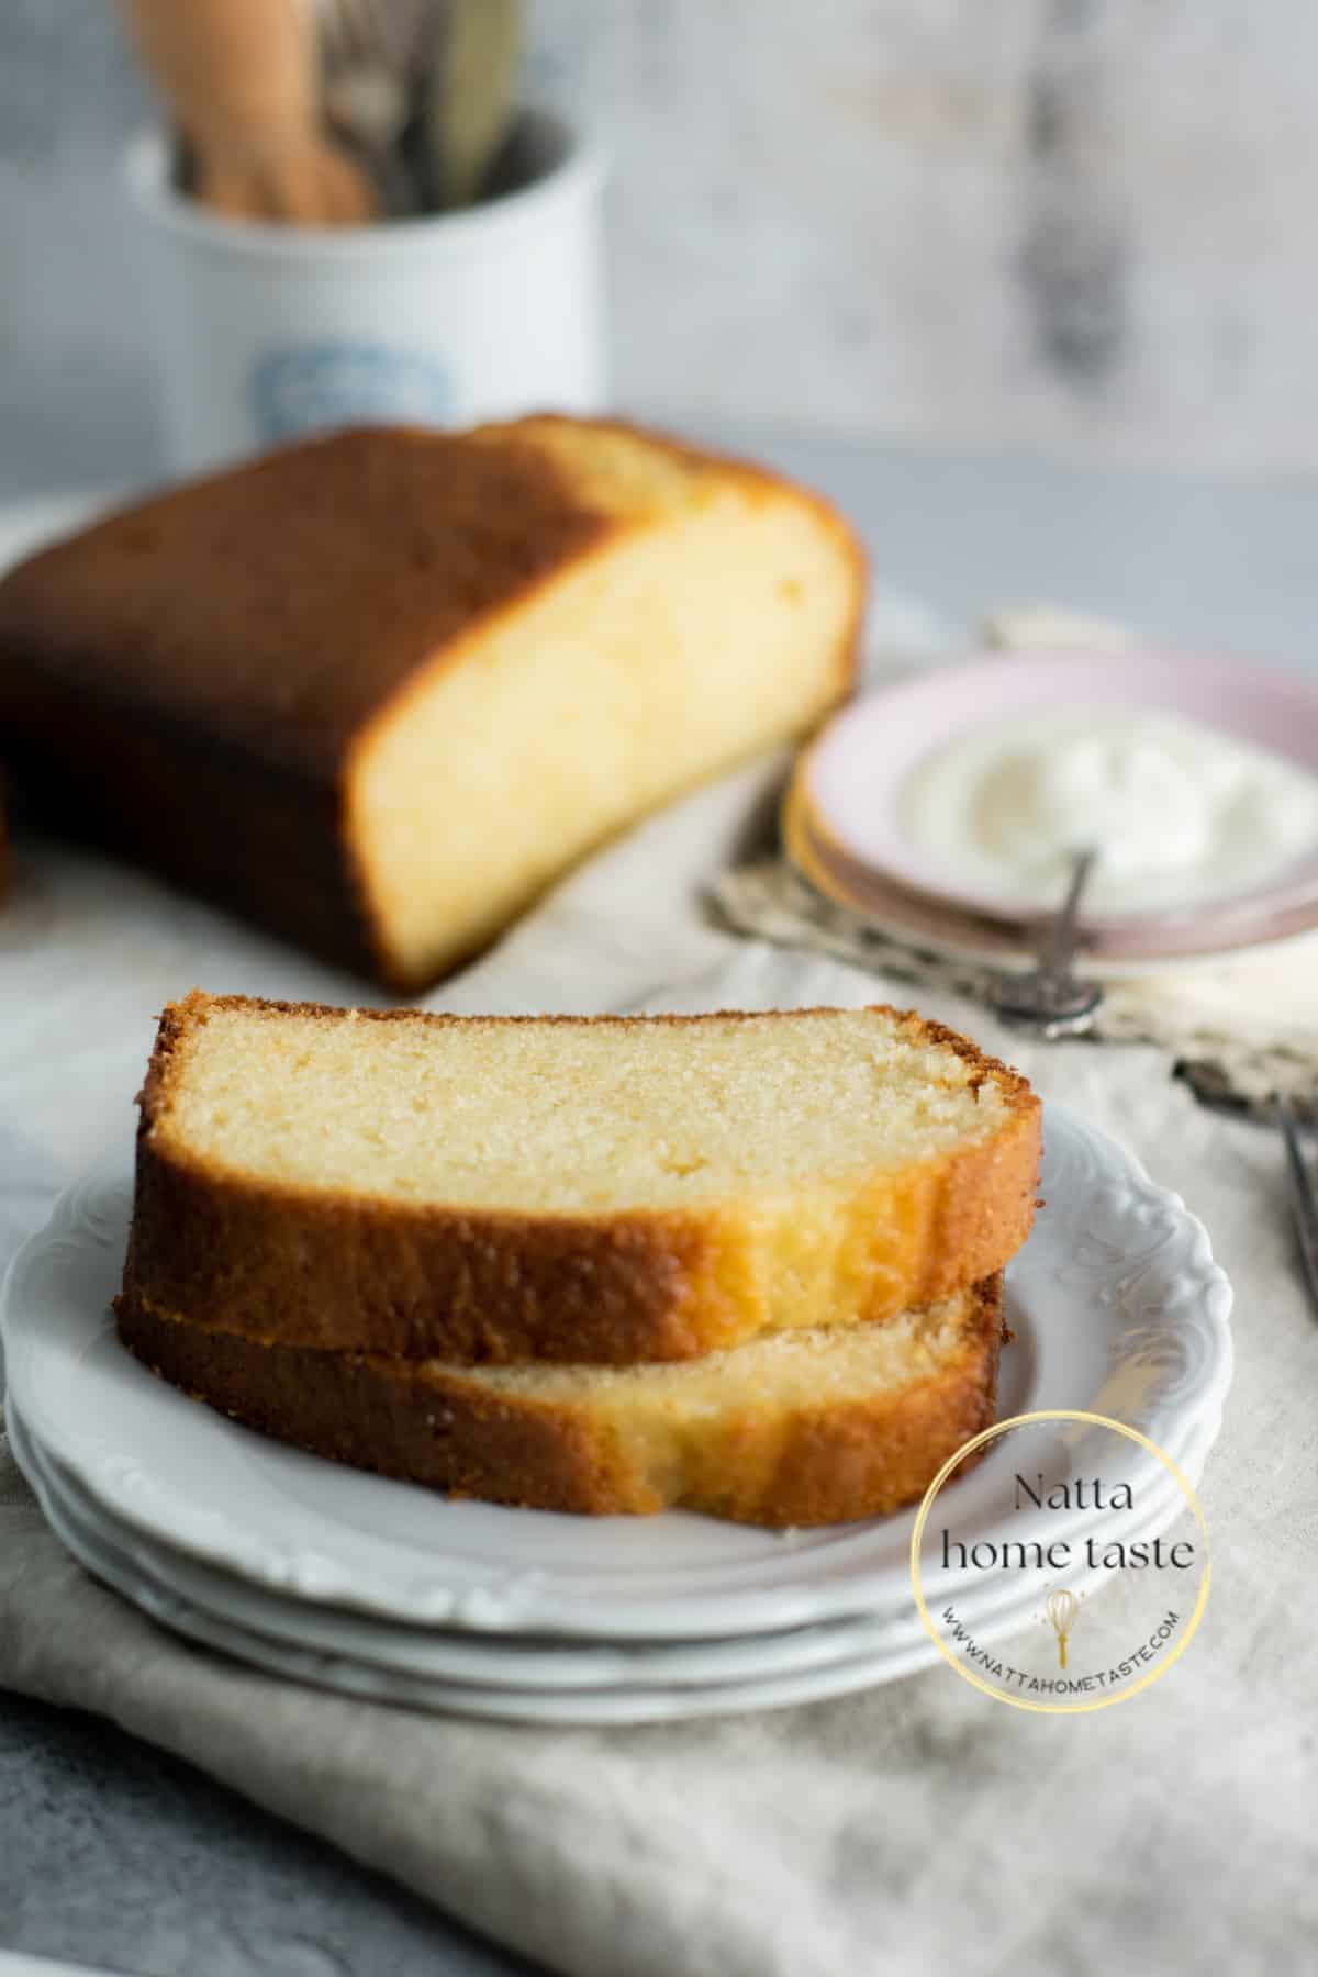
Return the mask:
[[(1318, 473), (1101, 467), (692, 413), (676, 423), (830, 494), (865, 538), (875, 577), (952, 623), (1047, 599), (1158, 639), (1318, 670)], [(128, 374), (71, 374), (51, 393), (41, 372), (8, 366), (0, 433), (0, 502), (164, 474), (152, 395)]]

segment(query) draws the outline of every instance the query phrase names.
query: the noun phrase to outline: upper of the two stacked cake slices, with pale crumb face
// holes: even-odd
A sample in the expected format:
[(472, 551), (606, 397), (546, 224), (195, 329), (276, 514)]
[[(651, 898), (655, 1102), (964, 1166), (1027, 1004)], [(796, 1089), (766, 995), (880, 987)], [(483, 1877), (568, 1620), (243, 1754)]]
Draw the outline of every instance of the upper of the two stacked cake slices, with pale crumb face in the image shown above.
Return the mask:
[[(124, 1295), (245, 1342), (688, 1360), (992, 1277), (1039, 1103), (889, 1008), (654, 1018), (164, 1010)], [(251, 1364), (283, 1364), (279, 1358)]]

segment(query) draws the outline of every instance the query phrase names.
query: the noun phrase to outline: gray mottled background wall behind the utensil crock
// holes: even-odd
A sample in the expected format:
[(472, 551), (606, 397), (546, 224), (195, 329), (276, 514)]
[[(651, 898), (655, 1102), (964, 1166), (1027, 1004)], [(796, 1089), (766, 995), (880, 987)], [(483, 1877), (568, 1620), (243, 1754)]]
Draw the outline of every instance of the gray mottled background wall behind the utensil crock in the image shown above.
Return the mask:
[[(617, 154), (618, 395), (1318, 465), (1310, 0), (539, 0)], [(0, 449), (150, 405), (113, 0), (0, 0)]]

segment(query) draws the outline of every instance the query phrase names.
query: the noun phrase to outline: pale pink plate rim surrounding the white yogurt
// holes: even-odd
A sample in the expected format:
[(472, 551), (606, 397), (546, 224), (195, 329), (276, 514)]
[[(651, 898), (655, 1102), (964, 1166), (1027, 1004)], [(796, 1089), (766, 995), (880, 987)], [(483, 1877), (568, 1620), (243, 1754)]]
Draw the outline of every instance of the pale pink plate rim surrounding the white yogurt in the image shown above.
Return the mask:
[[(984, 722), (1067, 708), (1182, 714), (1318, 773), (1318, 684), (1298, 674), (1162, 648), (974, 658), (864, 694), (828, 724), (796, 771), (816, 848), (842, 860), (852, 878), (869, 876), (883, 890), (935, 898), (1000, 927), (1028, 925), (1037, 915), (1024, 911), (1018, 900), (972, 890), (909, 840), (901, 793), (927, 755)], [(1223, 896), (1186, 913), (1085, 913), (1083, 923), (1111, 953), (1150, 953), (1150, 941), (1152, 951), (1203, 953), (1245, 945), (1253, 921), (1302, 911), (1314, 902), (1318, 844), (1247, 894)]]

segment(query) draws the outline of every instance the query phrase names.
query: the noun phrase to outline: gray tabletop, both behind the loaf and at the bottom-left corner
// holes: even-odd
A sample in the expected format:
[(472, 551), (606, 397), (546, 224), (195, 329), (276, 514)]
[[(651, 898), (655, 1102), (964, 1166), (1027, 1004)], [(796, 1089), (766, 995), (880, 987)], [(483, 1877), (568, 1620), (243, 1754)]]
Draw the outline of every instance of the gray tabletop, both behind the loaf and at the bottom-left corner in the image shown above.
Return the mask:
[[(89, 387), (87, 401), (105, 393)], [(917, 455), (788, 431), (711, 437), (828, 490), (862, 526), (879, 581), (952, 621), (1047, 597), (1166, 639), (1318, 666), (1314, 482)], [(0, 449), (0, 498), (142, 482), (156, 467), (140, 403), (71, 427), (32, 401)], [(0, 1174), (0, 1190), (22, 1196), (26, 1180)], [(113, 1726), (10, 1696), (0, 1947), (160, 1977), (524, 1969)]]

